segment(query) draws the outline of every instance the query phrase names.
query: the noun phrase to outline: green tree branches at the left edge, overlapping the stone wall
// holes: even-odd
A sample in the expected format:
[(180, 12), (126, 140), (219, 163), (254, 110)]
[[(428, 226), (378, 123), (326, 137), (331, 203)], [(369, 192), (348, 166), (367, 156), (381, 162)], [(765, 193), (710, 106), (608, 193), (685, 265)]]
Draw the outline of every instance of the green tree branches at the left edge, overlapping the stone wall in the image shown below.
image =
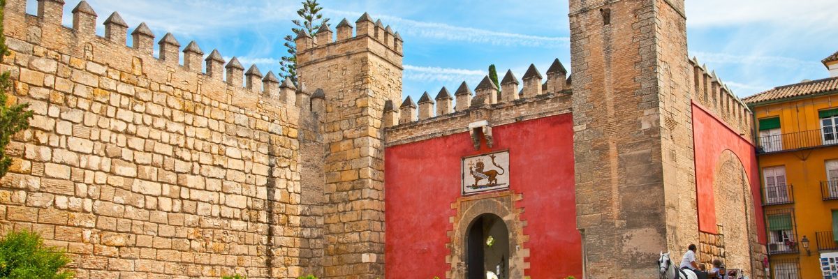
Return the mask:
[[(0, 0), (0, 23), (6, 11), (6, 0)], [(0, 24), (0, 62), (10, 54), (6, 46), (6, 36), (3, 35), (3, 24)], [(0, 74), (0, 178), (6, 175), (8, 167), (12, 165), (12, 158), (6, 155), (6, 146), (12, 140), (12, 136), (29, 127), (29, 119), (32, 118), (32, 111), (29, 111), (29, 104), (8, 105), (6, 92), (12, 88), (12, 80), (8, 71)]]

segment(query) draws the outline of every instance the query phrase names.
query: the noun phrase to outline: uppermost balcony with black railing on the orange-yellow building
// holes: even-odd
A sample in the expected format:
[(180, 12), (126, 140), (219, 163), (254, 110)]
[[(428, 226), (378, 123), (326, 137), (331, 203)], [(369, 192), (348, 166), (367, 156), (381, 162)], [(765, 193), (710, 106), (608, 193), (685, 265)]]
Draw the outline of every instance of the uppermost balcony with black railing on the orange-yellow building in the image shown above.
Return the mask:
[(759, 154), (838, 145), (838, 133), (831, 127), (776, 136), (758, 137)]

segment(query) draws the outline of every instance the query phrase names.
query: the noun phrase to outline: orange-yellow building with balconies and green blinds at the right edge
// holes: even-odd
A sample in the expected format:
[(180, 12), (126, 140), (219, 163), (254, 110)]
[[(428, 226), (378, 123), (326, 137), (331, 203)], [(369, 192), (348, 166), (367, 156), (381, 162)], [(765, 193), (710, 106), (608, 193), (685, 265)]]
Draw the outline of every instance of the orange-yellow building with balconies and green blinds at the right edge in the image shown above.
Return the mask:
[[(824, 61), (828, 69), (838, 64), (838, 53), (833, 56)], [(838, 76), (744, 101), (758, 130), (771, 278), (836, 278)]]

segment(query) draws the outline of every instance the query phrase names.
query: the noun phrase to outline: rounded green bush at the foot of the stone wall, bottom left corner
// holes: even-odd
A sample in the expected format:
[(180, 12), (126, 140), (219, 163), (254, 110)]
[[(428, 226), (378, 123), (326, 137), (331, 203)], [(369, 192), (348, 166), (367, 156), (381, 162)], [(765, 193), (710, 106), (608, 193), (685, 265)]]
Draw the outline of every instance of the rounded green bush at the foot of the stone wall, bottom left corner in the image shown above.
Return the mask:
[(0, 278), (71, 278), (70, 271), (62, 270), (68, 263), (64, 251), (44, 245), (33, 232), (10, 232), (0, 240)]

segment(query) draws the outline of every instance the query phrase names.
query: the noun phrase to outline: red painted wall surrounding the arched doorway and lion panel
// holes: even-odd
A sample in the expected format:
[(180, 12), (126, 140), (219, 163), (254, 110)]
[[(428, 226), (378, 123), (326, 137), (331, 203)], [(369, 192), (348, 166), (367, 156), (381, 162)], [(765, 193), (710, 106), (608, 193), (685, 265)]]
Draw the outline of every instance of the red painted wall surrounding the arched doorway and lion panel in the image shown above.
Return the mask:
[(576, 226), (571, 114), (493, 127), (494, 148), (475, 151), (468, 132), (385, 149), (387, 278), (444, 278), (451, 204), (461, 158), (510, 150), (510, 189), (523, 194), (533, 278), (582, 277)]

